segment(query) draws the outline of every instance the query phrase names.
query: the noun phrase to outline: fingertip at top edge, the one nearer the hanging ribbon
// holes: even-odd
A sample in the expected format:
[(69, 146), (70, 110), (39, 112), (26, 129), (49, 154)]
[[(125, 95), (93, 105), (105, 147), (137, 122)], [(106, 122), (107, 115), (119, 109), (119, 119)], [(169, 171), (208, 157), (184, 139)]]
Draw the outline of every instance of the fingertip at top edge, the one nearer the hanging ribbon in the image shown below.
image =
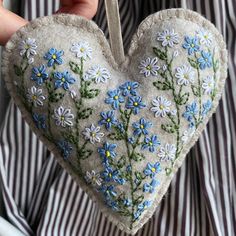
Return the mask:
[(70, 13), (92, 19), (98, 8), (98, 0), (61, 0), (57, 13)]

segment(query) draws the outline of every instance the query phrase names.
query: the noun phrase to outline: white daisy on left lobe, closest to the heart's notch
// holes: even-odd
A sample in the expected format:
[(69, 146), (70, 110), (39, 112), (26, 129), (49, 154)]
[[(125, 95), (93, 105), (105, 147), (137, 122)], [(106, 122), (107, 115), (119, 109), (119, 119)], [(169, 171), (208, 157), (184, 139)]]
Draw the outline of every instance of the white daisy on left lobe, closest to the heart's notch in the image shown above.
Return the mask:
[(106, 68), (96, 65), (87, 71), (84, 79), (93, 79), (96, 83), (106, 83), (110, 79), (110, 73)]

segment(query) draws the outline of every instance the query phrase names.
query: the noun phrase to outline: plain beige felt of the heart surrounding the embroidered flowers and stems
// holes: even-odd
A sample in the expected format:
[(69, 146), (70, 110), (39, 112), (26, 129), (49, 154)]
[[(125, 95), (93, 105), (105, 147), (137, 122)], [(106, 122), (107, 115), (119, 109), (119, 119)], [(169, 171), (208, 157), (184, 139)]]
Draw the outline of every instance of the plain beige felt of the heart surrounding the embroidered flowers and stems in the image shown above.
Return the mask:
[[(173, 60), (172, 68), (174, 73), (176, 67), (188, 63), (187, 51), (181, 46), (184, 36), (193, 35), (195, 31), (199, 30), (202, 27), (211, 32), (211, 34), (213, 35), (211, 48), (215, 48), (215, 56), (219, 59), (219, 71), (216, 75), (217, 93), (212, 103), (213, 107), (204, 118), (203, 122), (198, 126), (197, 130), (194, 132), (194, 135), (185, 144), (183, 144), (181, 154), (179, 155), (178, 159), (174, 161), (172, 173), (170, 175), (166, 175), (164, 170), (165, 168), (169, 168), (171, 166), (171, 162), (160, 162), (163, 170), (157, 174), (157, 178), (160, 181), (160, 186), (156, 188), (153, 194), (144, 193), (146, 200), (153, 201), (152, 207), (145, 210), (139, 220), (133, 224), (133, 228), (130, 229), (130, 219), (105, 206), (102, 194), (98, 193), (92, 186), (88, 185), (84, 181), (83, 177), (78, 176), (78, 172), (75, 169), (76, 153), (74, 149), (71, 154), (70, 161), (65, 161), (62, 158), (61, 152), (58, 150), (58, 147), (54, 143), (50, 142), (44, 136), (43, 132), (36, 128), (34, 122), (32, 121), (30, 112), (27, 111), (25, 105), (23, 104), (22, 98), (17, 93), (17, 87), (15, 85), (16, 83), (20, 83), (20, 78), (15, 75), (13, 68), (13, 65), (19, 65), (22, 59), (22, 57), (19, 55), (19, 42), (26, 38), (34, 38), (36, 39), (38, 46), (37, 55), (34, 56), (34, 63), (31, 64), (29, 66), (29, 69), (26, 70), (23, 78), (25, 88), (31, 88), (33, 85), (35, 85), (35, 82), (30, 79), (32, 74), (32, 67), (38, 67), (42, 64), (46, 64), (43, 56), (51, 47), (64, 51), (64, 63), (57, 67), (58, 71), (62, 72), (65, 70), (70, 70), (69, 61), (75, 61), (79, 63), (79, 59), (76, 58), (75, 54), (70, 51), (70, 48), (73, 43), (78, 43), (81, 41), (88, 42), (90, 47), (92, 48), (91, 59), (84, 62), (84, 71), (86, 72), (94, 65), (100, 65), (110, 72), (110, 79), (108, 79), (106, 83), (93, 83), (91, 85), (91, 88), (100, 89), (101, 92), (96, 98), (88, 99), (85, 101), (86, 106), (92, 107), (94, 109), (93, 114), (88, 119), (81, 120), (77, 127), (75, 126), (75, 124), (73, 124), (72, 129), (67, 130), (62, 127), (58, 127), (55, 124), (55, 120), (52, 117), (50, 118), (51, 130), (53, 133), (53, 137), (56, 140), (62, 138), (62, 131), (73, 132), (78, 127), (80, 131), (79, 139), (83, 140), (84, 136), (82, 134), (82, 131), (85, 129), (85, 127), (90, 127), (92, 123), (97, 125), (97, 122), (101, 119), (100, 112), (111, 110), (111, 106), (104, 102), (104, 99), (107, 97), (107, 92), (109, 90), (117, 89), (126, 81), (137, 81), (140, 84), (137, 91), (139, 95), (142, 96), (143, 101), (145, 101), (146, 108), (141, 109), (137, 116), (132, 116), (131, 123), (137, 122), (141, 117), (144, 117), (146, 120), (151, 121), (153, 123), (153, 126), (150, 128), (150, 134), (157, 134), (161, 142), (161, 146), (164, 146), (166, 143), (176, 143), (176, 136), (175, 134), (168, 134), (164, 132), (161, 128), (161, 124), (167, 123), (168, 118), (155, 117), (154, 113), (150, 109), (152, 107), (152, 100), (157, 96), (163, 96), (171, 101), (171, 109), (174, 109), (173, 96), (170, 91), (160, 91), (153, 86), (153, 82), (157, 80), (158, 76), (145, 77), (140, 73), (140, 69), (138, 67), (140, 65), (140, 62), (145, 58), (155, 57), (152, 51), (152, 47), (155, 46), (159, 49), (162, 49), (162, 46), (156, 40), (157, 32), (161, 32), (165, 29), (171, 28), (174, 29), (174, 31), (177, 32), (181, 38), (181, 42), (179, 44), (176, 44), (173, 48), (170, 48), (170, 50), (168, 51), (169, 56), (171, 56), (172, 53), (174, 53), (174, 51), (176, 50), (178, 50), (179, 52), (179, 55)], [(48, 146), (49, 150), (55, 154), (59, 163), (73, 176), (78, 184), (91, 196), (94, 201), (98, 202), (101, 211), (108, 216), (109, 220), (115, 223), (121, 230), (134, 234), (143, 226), (143, 224), (148, 221), (148, 219), (154, 213), (156, 207), (158, 206), (158, 203), (166, 193), (173, 175), (181, 166), (186, 154), (197, 141), (209, 118), (211, 117), (213, 112), (215, 112), (226, 79), (227, 52), (222, 36), (210, 22), (205, 20), (199, 14), (181, 9), (165, 10), (149, 16), (142, 22), (137, 33), (134, 35), (128, 56), (126, 57), (126, 61), (122, 64), (121, 67), (119, 67), (118, 63), (114, 61), (111, 55), (108, 43), (103, 33), (94, 23), (86, 21), (85, 19), (82, 19), (78, 16), (58, 15), (37, 19), (24, 28), (20, 29), (11, 38), (6, 46), (3, 64), (3, 70), (9, 92), (14, 98), (15, 103), (21, 109), (23, 117), (25, 117), (26, 121), (30, 124), (32, 130), (45, 143), (45, 145)], [(160, 67), (163, 67), (163, 62), (161, 60), (158, 60), (158, 65)], [(52, 72), (52, 68), (47, 68), (47, 71), (50, 74), (50, 72)], [(76, 78), (76, 83), (70, 85), (70, 89), (73, 89), (78, 96), (78, 94), (80, 93), (78, 75), (74, 74), (71, 71), (70, 73), (74, 78)], [(206, 77), (208, 75), (212, 75), (212, 73), (212, 69), (206, 69), (201, 71), (201, 76)], [(195, 85), (196, 83), (197, 81), (195, 80)], [(43, 94), (48, 97), (47, 90), (44, 85), (42, 86), (42, 89)], [(178, 89), (178, 85), (176, 85), (176, 89)], [(59, 90), (63, 91), (62, 88), (60, 88)], [(190, 104), (195, 100), (195, 97), (191, 92), (191, 87), (186, 86), (183, 88), (183, 90), (190, 93), (188, 101), (188, 104)], [(204, 94), (202, 96), (202, 100), (206, 101), (207, 99), (209, 99), (209, 95)], [(72, 113), (76, 116), (76, 107), (69, 93), (67, 93), (67, 95), (60, 102), (51, 104), (51, 114), (53, 114), (54, 109), (60, 105), (66, 108), (70, 108)], [(42, 107), (33, 108), (33, 111), (38, 113), (45, 113), (46, 115), (48, 115), (47, 102), (45, 102), (44, 106)], [(182, 114), (184, 111), (185, 106), (181, 106), (180, 113)], [(119, 117), (119, 115), (117, 115), (117, 117)], [(180, 133), (183, 134), (184, 131), (188, 129), (188, 122), (182, 116), (180, 117), (180, 119)], [(107, 136), (109, 132), (104, 128), (104, 126), (101, 126), (101, 132), (105, 134), (105, 137), (102, 139), (101, 143), (96, 143), (95, 145), (91, 143), (88, 144), (88, 147), (93, 150), (93, 154), (88, 159), (82, 161), (81, 167), (83, 170), (83, 175), (86, 174), (86, 171), (96, 170), (96, 172), (99, 172), (103, 170), (104, 167), (101, 163), (101, 157), (97, 153), (97, 148), (101, 147), (106, 140), (108, 140), (109, 143), (117, 144), (116, 153), (118, 153), (119, 156), (125, 154), (126, 152), (123, 141), (109, 140)], [(129, 127), (128, 133), (130, 136), (132, 136), (133, 130), (131, 125)], [(143, 172), (148, 162), (155, 163), (159, 160), (157, 156), (158, 150), (154, 153), (151, 153), (139, 149), (140, 153), (145, 154), (146, 159), (138, 163), (133, 162), (132, 168), (134, 170)], [(130, 186), (128, 184), (120, 185), (117, 187), (117, 192), (125, 192), (126, 194), (130, 195)], [(142, 190), (140, 190), (139, 192), (141, 194)]]

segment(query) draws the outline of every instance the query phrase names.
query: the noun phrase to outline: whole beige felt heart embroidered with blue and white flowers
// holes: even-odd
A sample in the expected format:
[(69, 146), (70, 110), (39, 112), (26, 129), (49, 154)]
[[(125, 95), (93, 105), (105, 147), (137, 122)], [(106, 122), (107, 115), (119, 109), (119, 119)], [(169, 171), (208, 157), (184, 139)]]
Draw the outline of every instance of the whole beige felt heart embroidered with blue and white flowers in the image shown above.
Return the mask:
[(134, 234), (216, 110), (227, 53), (210, 22), (171, 9), (142, 22), (118, 66), (93, 22), (56, 15), (11, 38), (3, 69), (32, 130), (108, 219)]

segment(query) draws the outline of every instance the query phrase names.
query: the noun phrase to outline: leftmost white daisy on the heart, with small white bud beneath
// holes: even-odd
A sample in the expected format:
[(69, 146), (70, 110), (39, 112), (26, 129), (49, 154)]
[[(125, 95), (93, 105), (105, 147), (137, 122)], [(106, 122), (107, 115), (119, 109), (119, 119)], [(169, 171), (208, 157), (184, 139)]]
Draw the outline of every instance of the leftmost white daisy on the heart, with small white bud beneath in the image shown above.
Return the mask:
[(34, 56), (37, 54), (36, 49), (37, 45), (35, 39), (27, 38), (19, 44), (20, 55), (22, 57), (25, 56), (29, 64), (34, 62)]

